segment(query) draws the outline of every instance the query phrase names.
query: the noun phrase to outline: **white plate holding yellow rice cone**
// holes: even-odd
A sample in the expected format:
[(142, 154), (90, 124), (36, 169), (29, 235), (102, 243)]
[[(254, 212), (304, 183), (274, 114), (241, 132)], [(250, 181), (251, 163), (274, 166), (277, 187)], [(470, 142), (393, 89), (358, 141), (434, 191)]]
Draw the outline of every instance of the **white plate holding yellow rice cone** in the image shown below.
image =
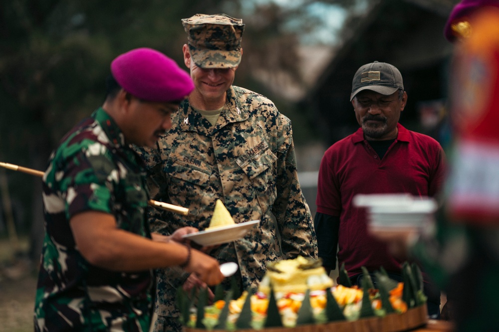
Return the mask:
[(216, 245), (232, 242), (242, 238), (248, 230), (259, 220), (245, 221), (230, 226), (221, 226), (213, 229), (202, 230), (197, 233), (185, 234), (183, 238), (188, 238), (201, 245)]

